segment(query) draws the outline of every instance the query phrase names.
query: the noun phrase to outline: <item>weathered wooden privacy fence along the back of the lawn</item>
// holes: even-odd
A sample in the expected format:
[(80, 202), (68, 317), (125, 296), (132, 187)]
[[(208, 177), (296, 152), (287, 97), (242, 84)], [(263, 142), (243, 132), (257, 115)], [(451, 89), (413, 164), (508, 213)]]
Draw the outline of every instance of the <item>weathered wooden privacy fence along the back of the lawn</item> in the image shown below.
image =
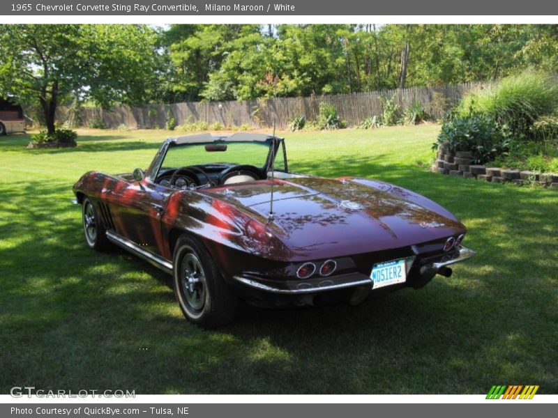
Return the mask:
[(149, 104), (144, 107), (114, 107), (112, 109), (82, 108), (76, 115), (68, 107), (59, 107), (56, 118), (60, 121), (79, 121), (87, 126), (100, 121), (105, 127), (126, 125), (130, 129), (165, 127), (169, 116), (178, 125), (204, 121), (209, 125), (273, 127), (285, 129), (295, 116), (304, 115), (307, 121), (317, 120), (319, 104), (333, 104), (340, 118), (347, 125), (359, 125), (366, 118), (382, 114), (384, 100), (394, 98), (403, 111), (414, 102), (420, 102), (428, 113), (440, 118), (465, 94), (483, 83), (448, 84), (444, 86), (412, 87), (368, 93), (310, 96), (307, 98), (274, 98), (269, 100), (246, 100), (242, 102), (182, 102), (173, 104)]

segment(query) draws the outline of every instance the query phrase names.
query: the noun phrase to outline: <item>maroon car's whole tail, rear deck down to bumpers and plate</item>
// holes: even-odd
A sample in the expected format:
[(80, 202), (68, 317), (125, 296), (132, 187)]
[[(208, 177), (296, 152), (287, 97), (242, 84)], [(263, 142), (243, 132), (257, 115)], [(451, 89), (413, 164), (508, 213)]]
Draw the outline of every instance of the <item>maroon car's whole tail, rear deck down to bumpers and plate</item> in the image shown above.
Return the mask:
[(230, 239), (239, 249), (215, 251), (227, 261), (225, 277), (252, 303), (356, 304), (420, 288), (436, 274), (448, 277), (449, 265), (474, 254), (462, 247), (465, 226), (442, 208), (329, 179), (281, 180), (273, 187), (272, 217), (270, 184), (207, 192), (223, 199), (213, 204), (221, 215), (234, 213), (227, 218), (238, 225)]

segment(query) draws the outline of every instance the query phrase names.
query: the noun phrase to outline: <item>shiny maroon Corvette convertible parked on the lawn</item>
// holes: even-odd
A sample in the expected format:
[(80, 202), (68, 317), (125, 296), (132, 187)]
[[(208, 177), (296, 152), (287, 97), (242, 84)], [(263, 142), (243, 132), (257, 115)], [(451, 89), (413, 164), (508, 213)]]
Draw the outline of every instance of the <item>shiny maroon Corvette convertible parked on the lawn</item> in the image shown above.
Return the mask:
[(73, 187), (89, 247), (111, 244), (172, 274), (202, 327), (260, 307), (313, 306), (420, 288), (474, 255), (448, 210), (368, 178), (292, 173), (283, 139), (167, 139), (146, 171), (85, 173)]

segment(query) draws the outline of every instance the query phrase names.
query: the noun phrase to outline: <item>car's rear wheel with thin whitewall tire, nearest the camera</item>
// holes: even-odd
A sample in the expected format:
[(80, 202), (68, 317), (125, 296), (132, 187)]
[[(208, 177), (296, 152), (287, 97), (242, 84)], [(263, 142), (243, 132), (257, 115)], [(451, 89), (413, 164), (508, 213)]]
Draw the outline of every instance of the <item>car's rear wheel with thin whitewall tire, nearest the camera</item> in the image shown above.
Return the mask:
[(174, 247), (173, 285), (186, 319), (203, 328), (214, 328), (234, 318), (236, 297), (204, 245), (182, 235)]

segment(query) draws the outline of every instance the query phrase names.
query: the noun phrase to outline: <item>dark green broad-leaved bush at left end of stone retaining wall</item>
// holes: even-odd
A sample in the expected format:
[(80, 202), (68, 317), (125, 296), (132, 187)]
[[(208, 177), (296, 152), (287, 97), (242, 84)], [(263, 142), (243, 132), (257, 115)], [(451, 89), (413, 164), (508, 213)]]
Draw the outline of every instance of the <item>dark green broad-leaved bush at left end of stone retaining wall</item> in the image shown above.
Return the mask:
[(484, 164), (508, 150), (509, 134), (489, 116), (472, 113), (444, 122), (432, 148), (442, 144), (450, 151), (471, 151), (475, 162)]

